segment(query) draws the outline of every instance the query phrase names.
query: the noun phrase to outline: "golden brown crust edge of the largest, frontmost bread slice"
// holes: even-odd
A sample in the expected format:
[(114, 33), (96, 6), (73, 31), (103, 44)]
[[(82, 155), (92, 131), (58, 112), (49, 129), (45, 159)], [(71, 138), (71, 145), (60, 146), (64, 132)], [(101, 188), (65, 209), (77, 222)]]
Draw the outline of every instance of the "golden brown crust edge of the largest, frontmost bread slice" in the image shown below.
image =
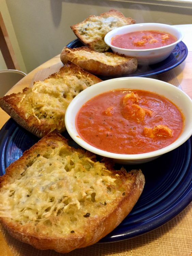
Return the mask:
[[(21, 167), (26, 165), (27, 156), (32, 154), (34, 150), (38, 150), (38, 147), (40, 147), (39, 150), (41, 151), (42, 147), (46, 147), (47, 143), (51, 143), (51, 146), (56, 146), (56, 142), (58, 140), (63, 141), (64, 144), (67, 142), (67, 140), (62, 137), (58, 131), (53, 131), (47, 134), (38, 143), (34, 144), (29, 150), (25, 151), (23, 156), (6, 169), (6, 174), (0, 177), (0, 189), (4, 183), (9, 182), (9, 177), (14, 175), (15, 168), (16, 172), (20, 173)], [(84, 152), (80, 149), (76, 150), (70, 146), (68, 147), (70, 150)], [(87, 156), (92, 155), (90, 152), (84, 153), (87, 154)], [(111, 169), (110, 165), (108, 167)], [(112, 212), (88, 223), (90, 225), (88, 225), (88, 228), (81, 236), (78, 236), (75, 233), (70, 233), (67, 237), (62, 238), (48, 236), (36, 237), (33, 234), (29, 234), (27, 231), (20, 232), (19, 225), (15, 226), (10, 224), (9, 218), (1, 217), (0, 221), (14, 238), (24, 243), (28, 243), (40, 250), (51, 249), (60, 253), (68, 253), (76, 248), (87, 247), (98, 242), (101, 238), (114, 230), (130, 213), (143, 191), (145, 178), (141, 170), (132, 170), (130, 172), (122, 170), (121, 173), (118, 171), (118, 174), (121, 175), (122, 182), (127, 179), (131, 179), (133, 181), (130, 190), (126, 191), (126, 195), (117, 203), (116, 208)]]

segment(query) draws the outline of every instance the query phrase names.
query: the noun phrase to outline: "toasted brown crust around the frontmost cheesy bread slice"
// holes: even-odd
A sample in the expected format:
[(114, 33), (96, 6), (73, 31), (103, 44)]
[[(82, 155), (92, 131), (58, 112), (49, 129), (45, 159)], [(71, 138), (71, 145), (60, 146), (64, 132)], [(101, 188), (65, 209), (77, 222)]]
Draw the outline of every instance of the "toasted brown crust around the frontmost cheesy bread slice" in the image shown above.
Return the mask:
[[(92, 155), (90, 152), (76, 150), (68, 146), (66, 140), (57, 131), (50, 132), (6, 169), (6, 174), (0, 177), (0, 196), (3, 193), (3, 187), (14, 182), (15, 179), (20, 177), (23, 170), (26, 170), (25, 166), (29, 164), (31, 157), (33, 158), (37, 154), (43, 155), (45, 152), (50, 151), (50, 148), (58, 147), (61, 144), (71, 152), (76, 151), (79, 154), (84, 154), (86, 157), (91, 157)], [(123, 169), (116, 171), (110, 165), (105, 164), (105, 166), (109, 170), (108, 175), (117, 179), (118, 185), (116, 189), (124, 191), (124, 193), (112, 199), (112, 202), (107, 202), (103, 206), (104, 212), (100, 213), (99, 210), (96, 210), (97, 214), (95, 216), (83, 218), (85, 222), (80, 230), (68, 232), (66, 235), (59, 233), (53, 235), (49, 232), (45, 235), (42, 234), (42, 231), (39, 233), (35, 232), (31, 227), (30, 221), (23, 225), (15, 222), (10, 217), (0, 217), (0, 221), (13, 237), (41, 250), (53, 249), (60, 253), (67, 253), (76, 248), (96, 243), (117, 227), (132, 210), (145, 184), (144, 175), (141, 170), (132, 170), (127, 173)], [(46, 225), (42, 226), (43, 230), (46, 230), (46, 228)]]

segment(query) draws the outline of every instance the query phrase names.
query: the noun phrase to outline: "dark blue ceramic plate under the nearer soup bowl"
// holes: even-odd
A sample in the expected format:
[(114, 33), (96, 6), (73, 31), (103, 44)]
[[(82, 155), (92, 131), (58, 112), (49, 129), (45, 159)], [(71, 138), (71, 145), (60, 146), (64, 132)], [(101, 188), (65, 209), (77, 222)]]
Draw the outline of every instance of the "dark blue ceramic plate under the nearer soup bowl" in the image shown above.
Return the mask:
[[(79, 147), (67, 132), (69, 144)], [(39, 139), (10, 118), (0, 131), (0, 174)], [(143, 193), (124, 221), (100, 242), (115, 242), (151, 231), (179, 214), (192, 200), (192, 138), (156, 160), (134, 166), (141, 168), (146, 184)], [(119, 168), (119, 166), (117, 166)]]

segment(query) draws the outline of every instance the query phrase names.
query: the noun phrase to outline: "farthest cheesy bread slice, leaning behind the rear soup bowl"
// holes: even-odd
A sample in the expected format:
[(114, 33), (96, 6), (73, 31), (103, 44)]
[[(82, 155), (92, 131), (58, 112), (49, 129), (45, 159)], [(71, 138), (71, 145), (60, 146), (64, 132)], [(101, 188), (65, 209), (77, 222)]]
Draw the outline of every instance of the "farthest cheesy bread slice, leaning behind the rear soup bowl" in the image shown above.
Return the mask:
[(104, 42), (105, 35), (118, 27), (134, 24), (135, 20), (126, 18), (121, 12), (112, 9), (99, 16), (90, 15), (80, 23), (71, 26), (76, 37), (91, 49), (105, 52), (109, 46)]

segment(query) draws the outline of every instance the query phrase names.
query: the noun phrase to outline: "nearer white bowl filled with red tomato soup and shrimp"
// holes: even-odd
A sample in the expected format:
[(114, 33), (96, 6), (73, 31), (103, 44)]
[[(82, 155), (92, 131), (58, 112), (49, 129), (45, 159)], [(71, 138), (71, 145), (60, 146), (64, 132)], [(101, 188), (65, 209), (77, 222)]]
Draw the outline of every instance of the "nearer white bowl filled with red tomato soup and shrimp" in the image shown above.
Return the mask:
[(192, 100), (156, 79), (110, 79), (71, 101), (65, 125), (72, 139), (94, 154), (118, 163), (144, 163), (189, 139)]

